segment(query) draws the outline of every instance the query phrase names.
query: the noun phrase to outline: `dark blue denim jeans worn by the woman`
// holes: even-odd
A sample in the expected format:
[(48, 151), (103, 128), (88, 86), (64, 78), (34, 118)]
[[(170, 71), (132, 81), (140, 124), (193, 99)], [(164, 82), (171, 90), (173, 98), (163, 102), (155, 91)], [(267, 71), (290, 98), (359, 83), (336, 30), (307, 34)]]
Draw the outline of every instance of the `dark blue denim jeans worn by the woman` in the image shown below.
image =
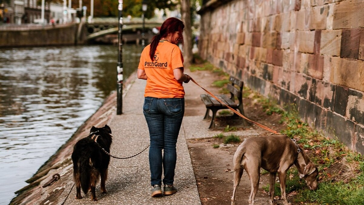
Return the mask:
[[(151, 185), (174, 182), (176, 143), (185, 113), (185, 98), (145, 97), (143, 113), (149, 128), (149, 167)], [(163, 157), (162, 157), (163, 149)]]

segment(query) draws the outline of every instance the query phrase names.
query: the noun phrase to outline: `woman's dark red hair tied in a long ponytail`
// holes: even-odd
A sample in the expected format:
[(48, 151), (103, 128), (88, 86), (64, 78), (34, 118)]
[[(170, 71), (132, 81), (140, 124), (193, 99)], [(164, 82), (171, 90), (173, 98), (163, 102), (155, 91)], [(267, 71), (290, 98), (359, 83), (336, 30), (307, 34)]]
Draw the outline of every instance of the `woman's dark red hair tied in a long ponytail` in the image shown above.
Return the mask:
[(155, 35), (152, 38), (152, 42), (150, 43), (150, 51), (149, 51), (150, 59), (152, 59), (152, 61), (153, 61), (153, 56), (154, 56), (155, 50), (157, 49), (159, 40), (161, 40), (161, 38), (165, 38), (170, 33), (173, 33), (176, 31), (178, 31), (180, 33), (181, 40), (179, 42), (182, 44), (182, 47), (183, 47), (184, 46), (183, 36), (182, 36), (183, 28), (185, 28), (185, 24), (183, 24), (183, 22), (181, 20), (174, 18), (174, 17), (166, 19), (161, 26), (161, 30), (159, 30), (159, 34)]

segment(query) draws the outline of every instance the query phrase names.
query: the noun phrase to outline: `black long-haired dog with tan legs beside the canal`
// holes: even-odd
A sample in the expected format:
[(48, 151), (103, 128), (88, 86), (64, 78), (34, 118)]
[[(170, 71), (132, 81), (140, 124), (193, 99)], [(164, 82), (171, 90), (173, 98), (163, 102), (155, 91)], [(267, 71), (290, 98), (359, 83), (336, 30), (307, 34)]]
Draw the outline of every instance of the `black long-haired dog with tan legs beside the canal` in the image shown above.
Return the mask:
[[(91, 200), (96, 201), (95, 187), (101, 175), (101, 192), (107, 193), (105, 181), (107, 178), (107, 168), (110, 162), (110, 153), (112, 142), (111, 129), (105, 125), (102, 128), (92, 126), (90, 135), (80, 139), (74, 146), (72, 152), (73, 176), (76, 184), (76, 198), (81, 197), (81, 188), (87, 196), (91, 189)], [(100, 147), (99, 147), (100, 146)]]

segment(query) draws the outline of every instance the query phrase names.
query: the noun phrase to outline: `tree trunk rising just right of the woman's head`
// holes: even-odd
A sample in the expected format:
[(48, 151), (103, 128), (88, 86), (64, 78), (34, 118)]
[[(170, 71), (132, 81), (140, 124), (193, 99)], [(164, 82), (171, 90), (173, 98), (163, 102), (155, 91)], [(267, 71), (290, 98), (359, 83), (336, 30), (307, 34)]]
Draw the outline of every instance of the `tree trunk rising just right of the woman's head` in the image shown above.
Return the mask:
[(183, 49), (183, 58), (185, 59), (184, 64), (186, 67), (191, 65), (193, 61), (190, 0), (181, 0), (181, 15), (182, 21), (183, 23), (185, 23), (185, 29), (183, 30), (183, 40), (185, 42), (185, 46)]

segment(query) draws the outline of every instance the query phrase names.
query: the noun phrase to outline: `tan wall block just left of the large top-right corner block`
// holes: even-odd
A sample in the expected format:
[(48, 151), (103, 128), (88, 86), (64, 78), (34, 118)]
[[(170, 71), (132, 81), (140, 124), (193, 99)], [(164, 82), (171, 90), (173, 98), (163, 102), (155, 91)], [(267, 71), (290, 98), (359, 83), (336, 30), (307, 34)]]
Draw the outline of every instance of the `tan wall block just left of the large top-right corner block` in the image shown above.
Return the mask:
[(326, 28), (328, 6), (313, 7), (311, 8), (311, 19), (309, 22), (310, 30), (323, 30)]

